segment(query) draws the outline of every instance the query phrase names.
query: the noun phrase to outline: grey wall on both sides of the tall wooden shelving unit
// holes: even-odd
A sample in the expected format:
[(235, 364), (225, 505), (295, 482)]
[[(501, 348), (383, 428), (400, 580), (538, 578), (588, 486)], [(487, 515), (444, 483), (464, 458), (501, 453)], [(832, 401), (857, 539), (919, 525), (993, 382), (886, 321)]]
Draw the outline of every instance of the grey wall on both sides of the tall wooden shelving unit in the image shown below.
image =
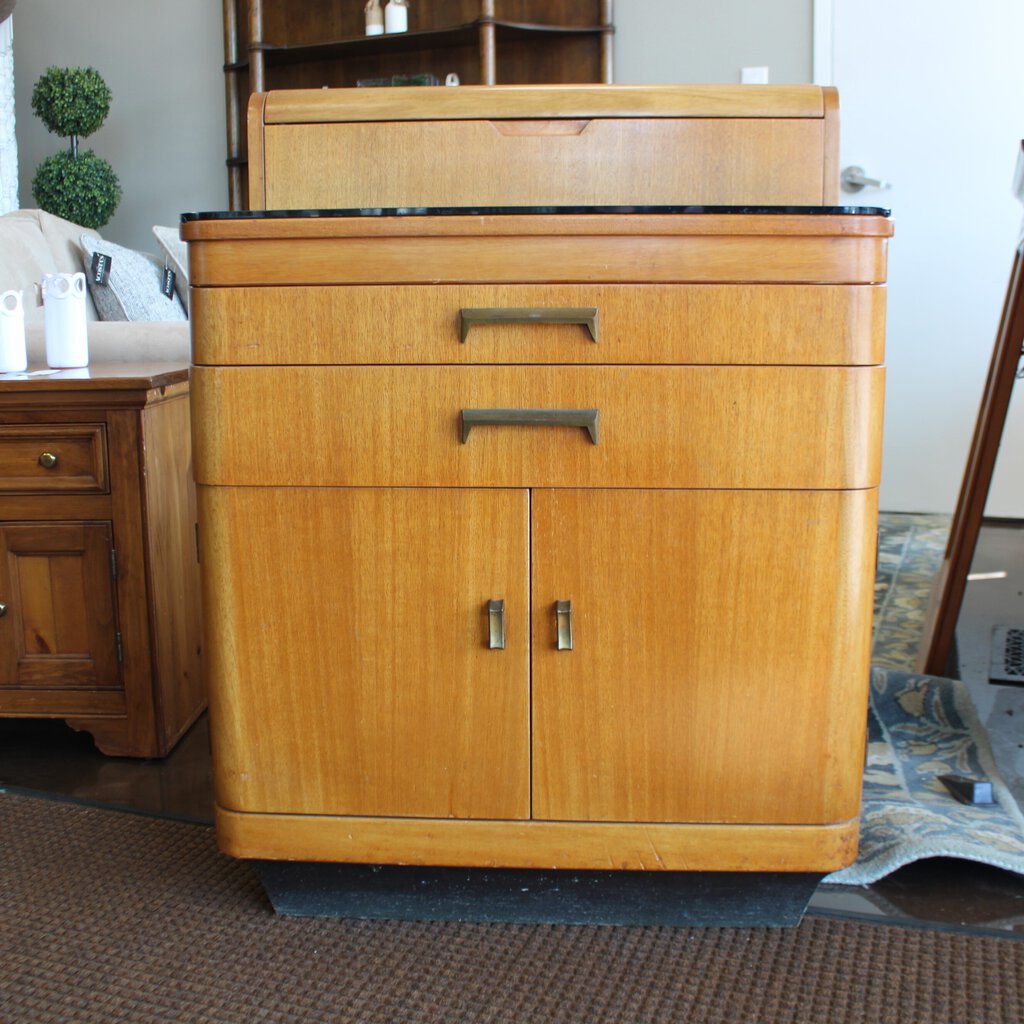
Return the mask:
[[(40, 161), (63, 144), (33, 115), (32, 88), (51, 65), (85, 65), (114, 102), (84, 145), (111, 162), (124, 189), (102, 234), (152, 252), (153, 224), (226, 208), (217, 0), (20, 0), (13, 17), (23, 207), (35, 205)], [(618, 0), (615, 26), (620, 82), (738, 82), (748, 65), (767, 65), (772, 82), (810, 81), (811, 0)]]

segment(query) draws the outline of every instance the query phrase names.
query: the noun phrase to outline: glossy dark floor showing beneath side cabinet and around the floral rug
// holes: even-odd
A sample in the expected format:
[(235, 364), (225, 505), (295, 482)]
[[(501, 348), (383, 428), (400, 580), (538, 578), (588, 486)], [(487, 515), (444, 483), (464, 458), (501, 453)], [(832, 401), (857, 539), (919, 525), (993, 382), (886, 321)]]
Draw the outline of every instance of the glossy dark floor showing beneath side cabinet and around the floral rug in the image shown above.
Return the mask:
[[(950, 674), (971, 687), (1000, 768), (1020, 800), (1024, 687), (992, 685), (988, 665), (992, 628), (1024, 626), (1024, 525), (986, 524), (974, 571), (1007, 577), (969, 586), (957, 627), (958, 663), (950, 667)], [(76, 733), (62, 722), (0, 720), (0, 787), (4, 786), (208, 822), (213, 791), (206, 718), (162, 761), (103, 757), (87, 734)], [(928, 860), (869, 887), (821, 887), (810, 909), (1024, 935), (1024, 879), (963, 861)]]

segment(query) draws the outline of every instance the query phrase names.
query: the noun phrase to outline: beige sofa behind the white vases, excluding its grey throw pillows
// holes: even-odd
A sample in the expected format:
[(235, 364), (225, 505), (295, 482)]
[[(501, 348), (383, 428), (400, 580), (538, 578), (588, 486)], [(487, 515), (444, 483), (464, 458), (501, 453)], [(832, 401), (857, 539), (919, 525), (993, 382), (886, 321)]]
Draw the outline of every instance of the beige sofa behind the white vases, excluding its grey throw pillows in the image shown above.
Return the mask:
[[(22, 291), (30, 369), (46, 365), (43, 308), (38, 302), (37, 286), (45, 273), (75, 273), (85, 268), (81, 243), (85, 233), (99, 236), (98, 231), (87, 231), (43, 210), (16, 210), (0, 216), (0, 292)], [(90, 365), (189, 359), (187, 319), (103, 321), (91, 296), (86, 297), (86, 316)]]

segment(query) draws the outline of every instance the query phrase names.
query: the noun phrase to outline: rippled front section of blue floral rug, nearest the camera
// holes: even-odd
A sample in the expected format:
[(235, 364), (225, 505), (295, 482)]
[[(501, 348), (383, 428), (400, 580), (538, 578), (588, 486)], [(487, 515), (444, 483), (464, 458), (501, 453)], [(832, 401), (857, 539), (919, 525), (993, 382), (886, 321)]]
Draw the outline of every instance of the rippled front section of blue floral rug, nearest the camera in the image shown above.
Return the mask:
[[(860, 852), (824, 881), (867, 885), (925, 857), (1024, 874), (1024, 816), (999, 777), (967, 692), (953, 679), (871, 673)], [(992, 783), (992, 805), (957, 802), (940, 775)]]

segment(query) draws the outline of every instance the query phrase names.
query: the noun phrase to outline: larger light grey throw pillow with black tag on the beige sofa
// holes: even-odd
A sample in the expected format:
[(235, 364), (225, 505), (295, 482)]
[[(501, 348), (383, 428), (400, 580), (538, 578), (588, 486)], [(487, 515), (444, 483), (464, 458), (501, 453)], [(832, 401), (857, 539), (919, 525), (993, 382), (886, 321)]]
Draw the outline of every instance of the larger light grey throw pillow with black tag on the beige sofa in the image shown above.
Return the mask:
[[(81, 237), (81, 242), (82, 265), (100, 319), (187, 319), (178, 297), (164, 295), (164, 266), (155, 256), (126, 249), (88, 232)], [(98, 284), (92, 278), (92, 257), (97, 252), (111, 259), (105, 284)]]

